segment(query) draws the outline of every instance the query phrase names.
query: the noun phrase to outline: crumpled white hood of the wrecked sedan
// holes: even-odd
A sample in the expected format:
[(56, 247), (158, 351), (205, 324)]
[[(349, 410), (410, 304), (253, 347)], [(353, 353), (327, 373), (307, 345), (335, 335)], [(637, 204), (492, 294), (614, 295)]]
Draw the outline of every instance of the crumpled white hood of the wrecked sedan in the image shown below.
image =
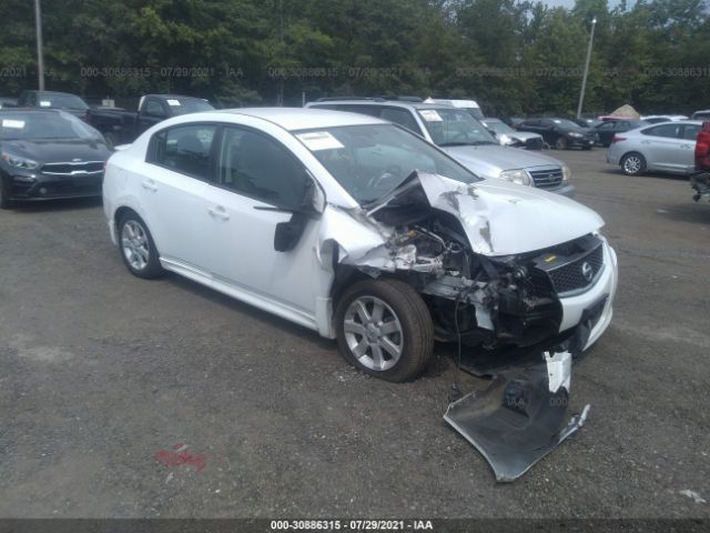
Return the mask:
[(510, 255), (541, 250), (599, 230), (604, 220), (574, 200), (503, 180), (460, 183), (416, 178), (435, 209), (460, 220), (473, 250)]

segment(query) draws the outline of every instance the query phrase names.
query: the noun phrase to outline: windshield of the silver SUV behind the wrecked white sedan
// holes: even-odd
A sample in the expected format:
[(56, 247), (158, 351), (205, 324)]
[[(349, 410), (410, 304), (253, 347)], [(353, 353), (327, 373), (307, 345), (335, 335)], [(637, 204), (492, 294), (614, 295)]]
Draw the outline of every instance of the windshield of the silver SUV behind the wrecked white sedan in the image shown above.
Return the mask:
[(439, 147), (498, 144), (465, 109), (419, 109), (417, 112), (432, 140)]

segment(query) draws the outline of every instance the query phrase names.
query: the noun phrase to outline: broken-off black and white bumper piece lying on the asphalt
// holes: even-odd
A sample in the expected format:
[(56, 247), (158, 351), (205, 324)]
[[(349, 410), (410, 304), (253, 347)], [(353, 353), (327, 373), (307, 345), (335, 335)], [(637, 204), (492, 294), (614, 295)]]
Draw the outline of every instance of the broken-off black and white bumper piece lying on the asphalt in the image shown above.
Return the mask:
[(527, 472), (584, 424), (565, 423), (571, 354), (545, 352), (542, 361), (497, 374), (490, 385), (449, 404), (444, 420), (488, 461), (500, 482)]

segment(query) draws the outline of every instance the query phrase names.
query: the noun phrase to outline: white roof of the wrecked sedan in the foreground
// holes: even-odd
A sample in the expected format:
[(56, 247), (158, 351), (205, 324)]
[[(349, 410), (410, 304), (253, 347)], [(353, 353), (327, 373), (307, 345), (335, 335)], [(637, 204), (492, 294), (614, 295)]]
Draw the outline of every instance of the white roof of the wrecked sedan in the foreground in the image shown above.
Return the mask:
[(388, 122), (367, 114), (332, 111), (317, 108), (240, 108), (211, 111), (215, 113), (245, 114), (267, 120), (281, 128), (307, 130), (313, 128), (335, 128), (339, 125), (387, 124)]

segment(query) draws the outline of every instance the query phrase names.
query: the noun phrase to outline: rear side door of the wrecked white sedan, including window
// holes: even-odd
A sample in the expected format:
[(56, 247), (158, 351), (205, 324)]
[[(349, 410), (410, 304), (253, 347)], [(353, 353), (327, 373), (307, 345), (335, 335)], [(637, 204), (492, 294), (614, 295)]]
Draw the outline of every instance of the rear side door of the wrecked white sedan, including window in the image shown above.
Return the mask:
[(151, 140), (138, 188), (161, 259), (172, 266), (209, 266), (207, 198), (214, 175), (214, 124), (178, 125)]

